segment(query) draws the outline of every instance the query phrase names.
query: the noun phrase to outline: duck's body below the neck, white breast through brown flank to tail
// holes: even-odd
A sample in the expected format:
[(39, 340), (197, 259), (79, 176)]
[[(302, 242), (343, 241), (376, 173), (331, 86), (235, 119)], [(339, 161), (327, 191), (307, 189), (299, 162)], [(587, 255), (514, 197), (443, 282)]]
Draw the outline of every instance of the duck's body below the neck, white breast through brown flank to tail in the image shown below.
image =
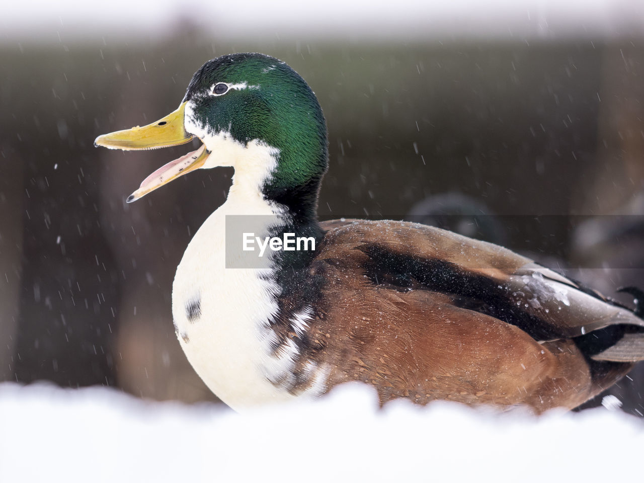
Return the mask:
[[(217, 216), (204, 223), (204, 239), (211, 240)], [(242, 274), (208, 264), (205, 270), (225, 283), (216, 291), (205, 284), (209, 305), (200, 319), (174, 311), (185, 354), (236, 410), (362, 381), (381, 403), (445, 399), (542, 412), (574, 408), (632, 367), (593, 361), (575, 340), (585, 327), (591, 332), (632, 314), (527, 258), (415, 223), (338, 220), (321, 227), (316, 257), (289, 283), (280, 286), (274, 269)], [(184, 294), (193, 289), (182, 284), (193, 287), (198, 279), (191, 249), (199, 238), (178, 267), (173, 307), (189, 306)], [(410, 242), (426, 252), (410, 255)], [(454, 260), (461, 253), (467, 255)], [(476, 295), (491, 287), (488, 300)]]

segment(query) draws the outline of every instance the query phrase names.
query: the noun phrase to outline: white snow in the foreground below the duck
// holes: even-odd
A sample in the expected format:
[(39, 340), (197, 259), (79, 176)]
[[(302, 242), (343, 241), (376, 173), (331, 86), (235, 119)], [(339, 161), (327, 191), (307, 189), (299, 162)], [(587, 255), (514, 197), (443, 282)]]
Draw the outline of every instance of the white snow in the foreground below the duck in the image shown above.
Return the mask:
[(381, 411), (372, 389), (349, 384), (238, 415), (108, 388), (0, 384), (0, 482), (636, 481), (643, 455), (644, 422), (605, 408)]

